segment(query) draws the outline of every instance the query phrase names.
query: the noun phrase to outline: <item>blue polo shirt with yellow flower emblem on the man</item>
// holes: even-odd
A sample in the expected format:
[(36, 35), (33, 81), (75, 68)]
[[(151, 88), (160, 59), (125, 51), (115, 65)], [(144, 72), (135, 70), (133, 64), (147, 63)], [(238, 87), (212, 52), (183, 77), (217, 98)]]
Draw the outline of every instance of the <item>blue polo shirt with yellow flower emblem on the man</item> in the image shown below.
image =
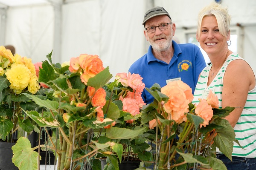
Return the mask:
[[(139, 74), (143, 78), (145, 87), (150, 88), (155, 83), (161, 87), (166, 86), (166, 80), (181, 78), (181, 81), (188, 84), (194, 93), (198, 76), (206, 66), (204, 56), (198, 46), (192, 43), (177, 44), (172, 41), (174, 55), (169, 64), (158, 60), (152, 54), (152, 46), (149, 46), (148, 53), (135, 61), (129, 72)], [(154, 97), (146, 90), (142, 92), (142, 98), (146, 104), (152, 103)]]

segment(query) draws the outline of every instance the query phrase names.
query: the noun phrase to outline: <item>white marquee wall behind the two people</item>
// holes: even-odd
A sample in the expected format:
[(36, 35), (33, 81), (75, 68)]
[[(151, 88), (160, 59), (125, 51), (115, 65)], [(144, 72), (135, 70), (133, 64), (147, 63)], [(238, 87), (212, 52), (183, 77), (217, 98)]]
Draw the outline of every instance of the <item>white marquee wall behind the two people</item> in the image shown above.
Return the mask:
[[(46, 55), (52, 49), (53, 61), (60, 63), (81, 53), (99, 55), (104, 66), (109, 66), (115, 75), (128, 72), (129, 66), (148, 49), (141, 24), (147, 9), (163, 6), (176, 23), (175, 37), (185, 43), (183, 27), (195, 29), (198, 12), (212, 1), (78, 0), (64, 3), (59, 12), (51, 4), (9, 7), (5, 43), (0, 45), (14, 45), (16, 53), (32, 58), (33, 62), (47, 60)], [(240, 55), (256, 71), (256, 1), (222, 0), (222, 3), (229, 6), (231, 25), (244, 26)], [(61, 13), (61, 25), (58, 22), (55, 25), (56, 13)]]

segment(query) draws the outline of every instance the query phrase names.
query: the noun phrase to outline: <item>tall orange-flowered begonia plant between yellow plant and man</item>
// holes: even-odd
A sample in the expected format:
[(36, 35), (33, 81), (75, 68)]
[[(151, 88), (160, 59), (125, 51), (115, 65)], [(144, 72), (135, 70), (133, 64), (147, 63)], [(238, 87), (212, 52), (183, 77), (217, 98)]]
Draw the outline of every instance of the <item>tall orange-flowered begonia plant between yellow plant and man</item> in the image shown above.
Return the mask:
[[(49, 140), (31, 148), (27, 138), (20, 138), (12, 147), (12, 160), (20, 170), (37, 170), (39, 158), (34, 150), (40, 147), (55, 153), (58, 170), (82, 170), (88, 166), (100, 170), (97, 157), (110, 156), (109, 150), (112, 150), (121, 158), (123, 145), (120, 141), (135, 139), (147, 129), (132, 124), (133, 120), (140, 118), (142, 100), (137, 103), (139, 112), (136, 114), (125, 109), (124, 101), (131, 105), (126, 99), (130, 94), (128, 91), (134, 97), (137, 95), (134, 88), (138, 86), (123, 86), (121, 80), (109, 83), (112, 75), (97, 55), (82, 54), (71, 58), (70, 66), (52, 63), (51, 55), (52, 52), (47, 55), (49, 62), (44, 61), (39, 71), (39, 82), (49, 87), (45, 96), (26, 94), (45, 109), (42, 112), (24, 110), (40, 127), (45, 128)], [(129, 82), (136, 84), (141, 79), (135, 76), (135, 80)], [(129, 126), (127, 121), (131, 123)], [(48, 133), (49, 129), (52, 134)], [(117, 158), (111, 157), (111, 160), (118, 168)]]

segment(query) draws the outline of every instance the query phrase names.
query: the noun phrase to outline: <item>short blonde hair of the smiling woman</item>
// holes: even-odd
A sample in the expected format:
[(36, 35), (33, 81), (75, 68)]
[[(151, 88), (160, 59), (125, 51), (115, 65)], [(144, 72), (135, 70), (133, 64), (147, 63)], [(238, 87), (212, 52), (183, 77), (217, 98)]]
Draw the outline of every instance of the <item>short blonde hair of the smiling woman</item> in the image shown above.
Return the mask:
[(209, 6), (204, 7), (198, 14), (198, 37), (200, 37), (201, 34), (201, 24), (203, 18), (209, 16), (216, 17), (220, 34), (227, 37), (230, 30), (229, 26), (231, 16), (227, 12), (227, 7), (221, 6), (221, 4), (215, 2), (212, 2)]

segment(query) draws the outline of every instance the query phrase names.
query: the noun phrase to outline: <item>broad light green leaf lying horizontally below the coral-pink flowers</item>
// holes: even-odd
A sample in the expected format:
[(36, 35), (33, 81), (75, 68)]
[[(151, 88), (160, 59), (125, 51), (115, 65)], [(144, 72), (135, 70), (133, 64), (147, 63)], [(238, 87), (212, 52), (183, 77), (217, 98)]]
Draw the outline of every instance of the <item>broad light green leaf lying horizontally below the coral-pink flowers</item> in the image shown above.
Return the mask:
[(111, 139), (129, 139), (129, 138), (136, 138), (138, 135), (143, 134), (145, 131), (146, 131), (146, 127), (142, 127), (139, 130), (110, 127), (106, 129), (106, 136)]

